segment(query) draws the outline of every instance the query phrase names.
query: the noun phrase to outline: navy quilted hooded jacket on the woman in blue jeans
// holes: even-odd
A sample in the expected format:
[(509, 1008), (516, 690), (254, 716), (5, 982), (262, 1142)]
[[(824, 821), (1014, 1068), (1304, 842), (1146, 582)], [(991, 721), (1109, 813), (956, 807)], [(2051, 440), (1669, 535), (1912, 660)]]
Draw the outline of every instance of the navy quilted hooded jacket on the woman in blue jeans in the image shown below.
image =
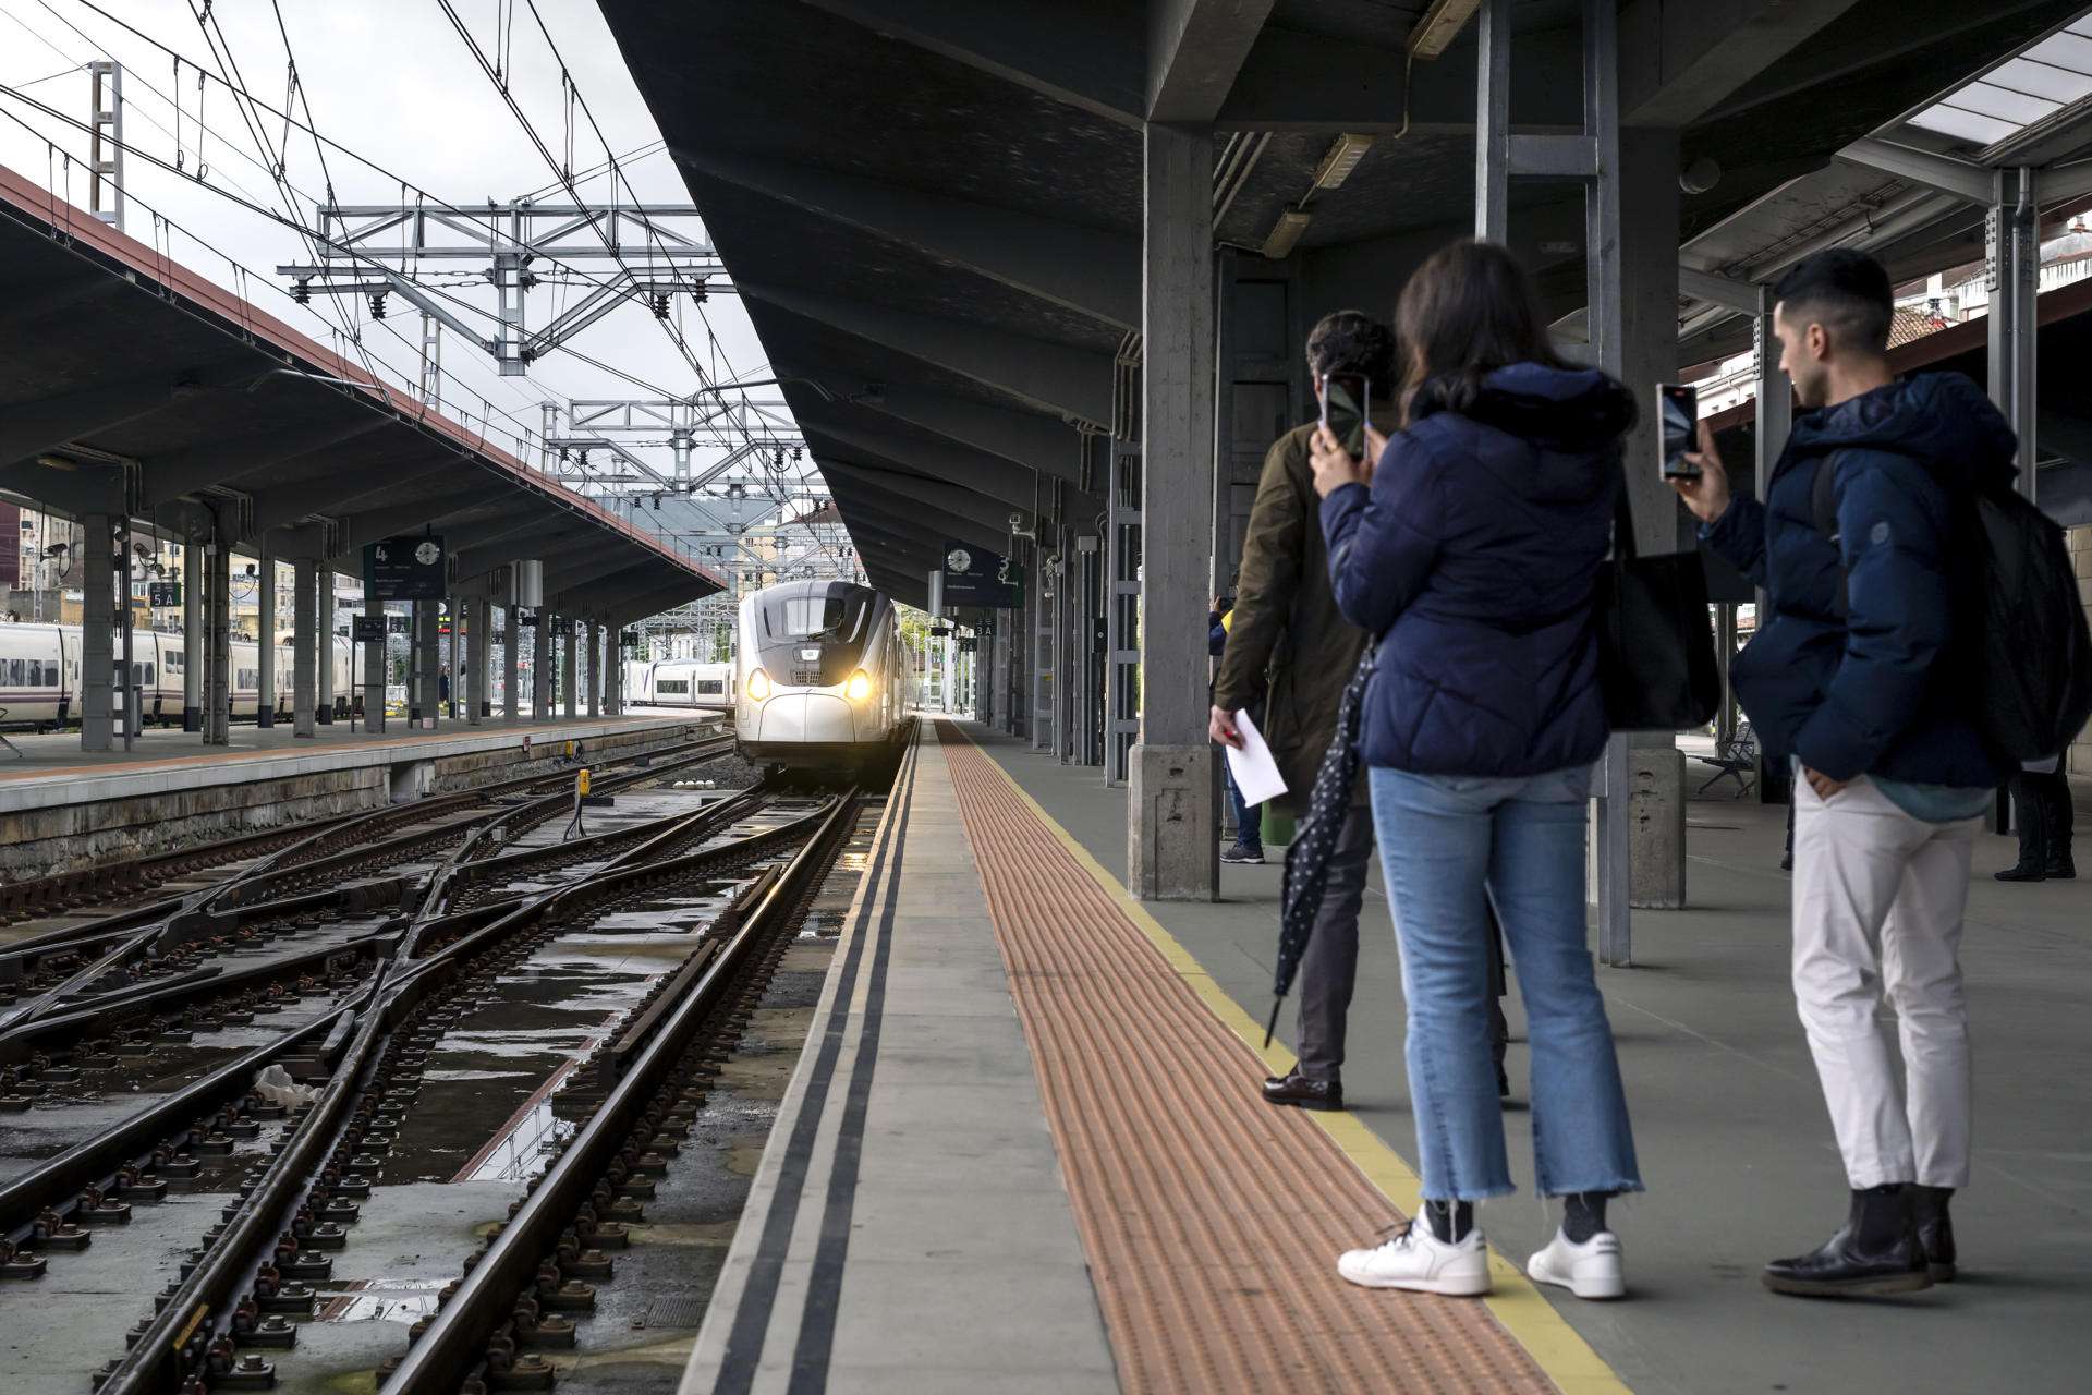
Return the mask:
[(1368, 765), (1531, 776), (1598, 757), (1592, 588), (1611, 550), (1634, 397), (1592, 368), (1427, 383), (1364, 485), (1322, 500), (1343, 615), (1379, 636)]

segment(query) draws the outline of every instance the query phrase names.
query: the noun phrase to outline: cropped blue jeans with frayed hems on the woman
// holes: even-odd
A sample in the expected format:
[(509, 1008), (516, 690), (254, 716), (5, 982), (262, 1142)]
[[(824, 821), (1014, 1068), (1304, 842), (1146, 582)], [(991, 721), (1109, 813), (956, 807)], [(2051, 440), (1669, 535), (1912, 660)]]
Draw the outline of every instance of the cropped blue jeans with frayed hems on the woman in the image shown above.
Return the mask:
[(1586, 768), (1527, 778), (1372, 770), (1372, 826), (1402, 945), (1423, 1194), (1513, 1190), (1490, 1060), (1496, 901), (1531, 1039), (1542, 1196), (1638, 1192), (1628, 1096), (1584, 929)]

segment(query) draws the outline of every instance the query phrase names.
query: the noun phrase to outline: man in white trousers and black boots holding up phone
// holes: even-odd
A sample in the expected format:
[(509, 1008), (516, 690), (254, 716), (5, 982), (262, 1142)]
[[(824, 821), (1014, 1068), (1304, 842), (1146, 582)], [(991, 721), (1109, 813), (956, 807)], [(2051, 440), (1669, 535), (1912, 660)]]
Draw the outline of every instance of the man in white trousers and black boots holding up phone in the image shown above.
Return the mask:
[[(1969, 1182), (1969, 1010), (1956, 950), (1969, 862), (2004, 770), (1954, 682), (1954, 519), (2013, 473), (2013, 429), (1956, 372), (1895, 379), (1879, 261), (1814, 253), (1774, 287), (1780, 368), (1805, 408), (1766, 500), (1730, 496), (1701, 422), (1672, 481), (1701, 538), (1770, 592), (1734, 684), (1795, 776), (1795, 1004), (1851, 1205), (1776, 1293), (1906, 1293), (1954, 1274), (1948, 1196)], [(1818, 475), (1830, 471), (1818, 523)], [(1895, 1008), (1906, 1090), (1874, 1014)]]

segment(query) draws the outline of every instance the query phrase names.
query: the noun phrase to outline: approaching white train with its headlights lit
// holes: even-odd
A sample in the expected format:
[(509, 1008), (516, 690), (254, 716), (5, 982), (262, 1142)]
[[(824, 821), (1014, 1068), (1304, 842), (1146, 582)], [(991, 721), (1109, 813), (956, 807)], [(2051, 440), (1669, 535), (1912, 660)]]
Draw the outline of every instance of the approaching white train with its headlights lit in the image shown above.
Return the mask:
[(741, 600), (734, 736), (751, 761), (837, 770), (887, 749), (908, 715), (893, 602), (849, 581)]

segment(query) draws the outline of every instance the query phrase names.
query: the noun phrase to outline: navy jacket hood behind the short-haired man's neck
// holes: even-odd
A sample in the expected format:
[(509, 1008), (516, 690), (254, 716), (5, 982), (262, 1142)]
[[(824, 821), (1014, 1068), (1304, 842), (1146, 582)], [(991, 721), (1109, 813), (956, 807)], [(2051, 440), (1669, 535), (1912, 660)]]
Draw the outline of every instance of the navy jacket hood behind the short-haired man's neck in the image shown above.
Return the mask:
[(2010, 483), (2019, 437), (1971, 379), (1925, 372), (1795, 418), (1793, 454), (1854, 448), (1916, 456), (1952, 483), (1998, 485)]

